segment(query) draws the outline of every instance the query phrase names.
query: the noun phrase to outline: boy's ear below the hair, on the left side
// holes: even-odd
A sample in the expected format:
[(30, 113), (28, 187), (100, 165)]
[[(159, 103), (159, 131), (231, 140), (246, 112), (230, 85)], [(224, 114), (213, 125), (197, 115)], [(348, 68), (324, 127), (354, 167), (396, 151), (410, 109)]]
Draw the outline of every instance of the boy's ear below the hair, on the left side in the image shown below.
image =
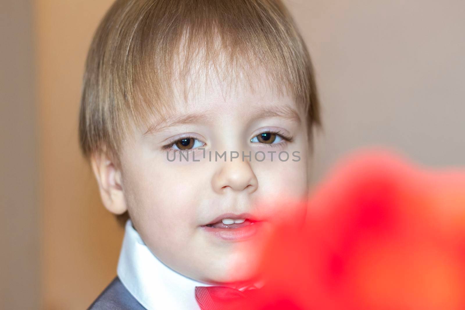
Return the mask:
[(91, 165), (99, 184), (100, 197), (106, 209), (114, 214), (126, 212), (126, 199), (121, 186), (121, 171), (104, 153), (91, 156)]

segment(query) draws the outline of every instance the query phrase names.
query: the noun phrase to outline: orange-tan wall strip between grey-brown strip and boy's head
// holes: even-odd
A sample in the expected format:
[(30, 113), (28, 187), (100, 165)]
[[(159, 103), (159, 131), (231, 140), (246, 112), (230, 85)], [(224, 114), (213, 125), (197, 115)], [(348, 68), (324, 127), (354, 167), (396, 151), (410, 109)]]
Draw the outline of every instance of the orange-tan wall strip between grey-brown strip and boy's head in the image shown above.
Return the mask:
[(122, 231), (100, 204), (77, 136), (86, 52), (110, 2), (34, 2), (47, 310), (85, 309), (116, 275)]

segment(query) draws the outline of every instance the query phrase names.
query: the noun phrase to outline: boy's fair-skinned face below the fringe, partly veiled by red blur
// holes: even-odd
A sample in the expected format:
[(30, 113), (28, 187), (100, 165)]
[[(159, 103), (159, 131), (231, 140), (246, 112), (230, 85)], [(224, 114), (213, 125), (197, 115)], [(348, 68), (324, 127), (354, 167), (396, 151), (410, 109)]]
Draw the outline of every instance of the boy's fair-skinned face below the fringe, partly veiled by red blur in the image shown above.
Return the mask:
[[(224, 95), (224, 87), (200, 85), (187, 104), (174, 104), (176, 112), (166, 120), (154, 117), (151, 131), (134, 129), (116, 170), (121, 194), (108, 202), (120, 205), (119, 213), (127, 207), (146, 245), (166, 265), (219, 283), (251, 277), (252, 250), (259, 248), (247, 246), (276, 223), (304, 221), (304, 205), (277, 202), (306, 197), (309, 157), (306, 116), (291, 96), (264, 87)], [(225, 151), (226, 161), (219, 158)], [(255, 158), (259, 151), (265, 158)], [(231, 160), (231, 152), (239, 158)]]

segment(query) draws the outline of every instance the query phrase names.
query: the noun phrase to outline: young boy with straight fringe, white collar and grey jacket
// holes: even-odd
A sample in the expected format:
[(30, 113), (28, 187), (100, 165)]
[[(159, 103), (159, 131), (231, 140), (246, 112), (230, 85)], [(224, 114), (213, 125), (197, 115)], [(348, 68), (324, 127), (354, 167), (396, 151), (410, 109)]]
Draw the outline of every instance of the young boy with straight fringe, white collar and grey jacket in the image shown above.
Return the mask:
[(262, 285), (252, 244), (303, 223), (277, 202), (307, 195), (315, 125), (310, 57), (279, 0), (117, 0), (89, 50), (80, 145), (105, 207), (130, 219), (90, 309), (207, 309), (199, 288)]

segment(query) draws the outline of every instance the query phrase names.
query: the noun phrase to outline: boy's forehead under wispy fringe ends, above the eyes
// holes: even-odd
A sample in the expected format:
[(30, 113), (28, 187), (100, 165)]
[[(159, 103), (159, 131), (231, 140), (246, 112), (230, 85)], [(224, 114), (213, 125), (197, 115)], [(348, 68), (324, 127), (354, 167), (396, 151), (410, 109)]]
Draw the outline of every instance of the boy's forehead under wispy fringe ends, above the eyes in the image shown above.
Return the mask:
[[(259, 119), (280, 117), (303, 122), (304, 111), (291, 92), (269, 82), (264, 73), (244, 78), (193, 75), (188, 83), (173, 85), (173, 97), (167, 108), (154, 113), (146, 124), (146, 133), (163, 130), (170, 125), (212, 123), (223, 119)], [(250, 83), (250, 81), (254, 81)]]

